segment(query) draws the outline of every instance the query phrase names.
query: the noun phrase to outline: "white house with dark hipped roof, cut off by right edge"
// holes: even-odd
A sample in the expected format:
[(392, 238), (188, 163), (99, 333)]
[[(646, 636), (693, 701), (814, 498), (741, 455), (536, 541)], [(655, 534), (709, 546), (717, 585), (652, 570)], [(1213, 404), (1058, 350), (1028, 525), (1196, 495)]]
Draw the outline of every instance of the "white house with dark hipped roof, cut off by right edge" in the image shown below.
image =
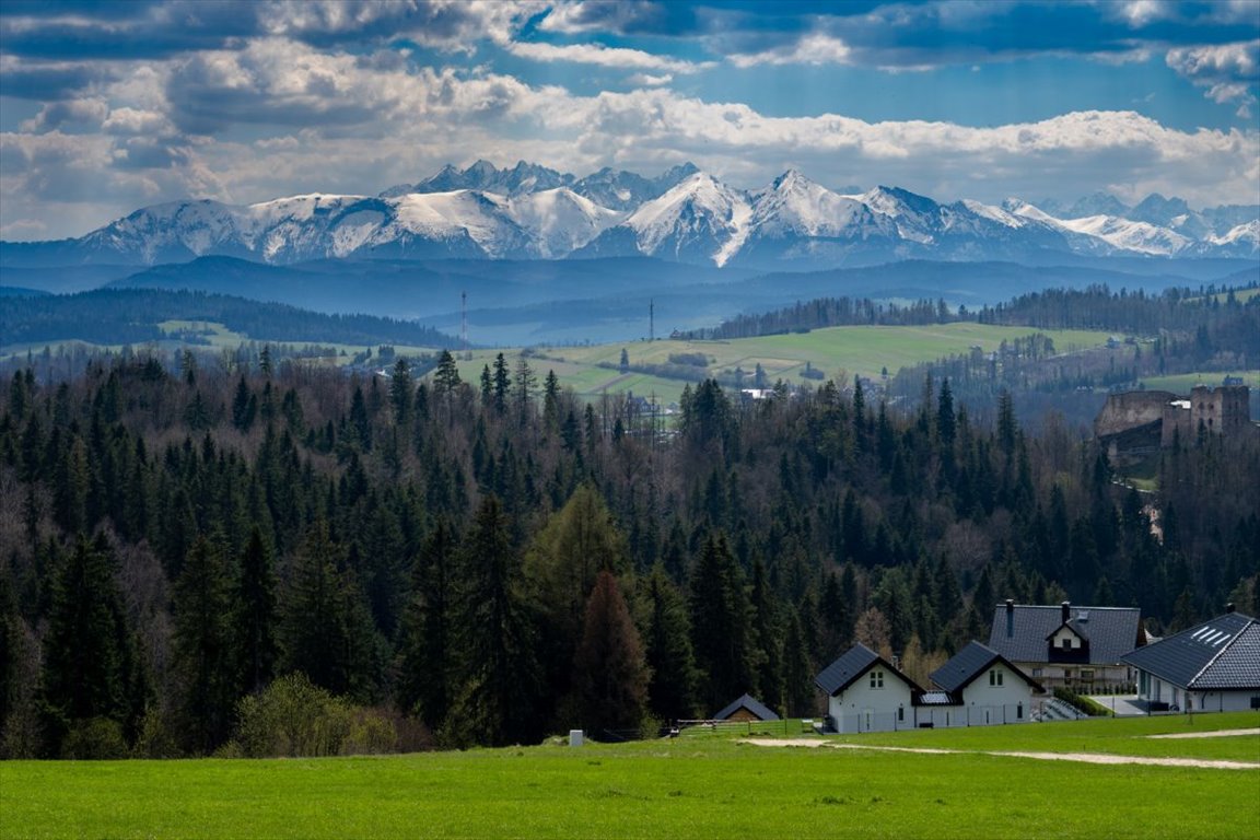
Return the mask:
[(1230, 612), (1124, 657), (1150, 710), (1260, 709), (1260, 621)]

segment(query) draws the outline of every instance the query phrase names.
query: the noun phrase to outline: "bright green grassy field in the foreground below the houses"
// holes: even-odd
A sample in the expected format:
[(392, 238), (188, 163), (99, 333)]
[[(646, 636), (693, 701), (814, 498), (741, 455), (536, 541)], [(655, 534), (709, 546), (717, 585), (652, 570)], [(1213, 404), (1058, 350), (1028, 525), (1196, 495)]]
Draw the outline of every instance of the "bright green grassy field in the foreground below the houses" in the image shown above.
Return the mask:
[[(1256, 714), (849, 737), (1202, 757)], [(828, 739), (835, 741), (835, 739)], [(1208, 746), (1211, 744), (1211, 746)], [(1227, 746), (1226, 746), (1227, 744)], [(0, 763), (3, 837), (1250, 837), (1260, 769), (788, 749), (733, 738), (382, 758)]]

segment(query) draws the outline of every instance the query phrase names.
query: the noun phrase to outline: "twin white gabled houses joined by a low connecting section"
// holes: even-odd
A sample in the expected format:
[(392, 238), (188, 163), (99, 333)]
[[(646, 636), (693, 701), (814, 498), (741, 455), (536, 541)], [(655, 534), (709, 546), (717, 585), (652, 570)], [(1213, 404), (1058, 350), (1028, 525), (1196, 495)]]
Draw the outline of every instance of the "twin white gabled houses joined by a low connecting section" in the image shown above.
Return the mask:
[(1029, 719), (1041, 686), (997, 651), (971, 642), (924, 690), (866, 645), (854, 645), (814, 680), (827, 693), (834, 732), (984, 727)]

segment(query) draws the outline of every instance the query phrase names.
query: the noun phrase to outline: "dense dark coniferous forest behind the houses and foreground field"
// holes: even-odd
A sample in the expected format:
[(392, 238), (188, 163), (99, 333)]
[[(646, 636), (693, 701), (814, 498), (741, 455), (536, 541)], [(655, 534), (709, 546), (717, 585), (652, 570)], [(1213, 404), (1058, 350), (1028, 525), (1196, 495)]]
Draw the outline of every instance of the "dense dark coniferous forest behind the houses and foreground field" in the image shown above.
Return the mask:
[[(0, 754), (525, 743), (746, 691), (809, 715), (854, 640), (926, 680), (1003, 598), (1139, 606), (1157, 633), (1260, 612), (1257, 436), (1178, 441), (1139, 492), (1014, 399), (982, 424), (949, 379), (896, 409), (861, 382), (704, 380), (665, 426), (528, 356), (475, 382), (446, 353), (425, 378), (266, 349), (19, 370)], [(341, 734), (299, 744), (302, 703)]]

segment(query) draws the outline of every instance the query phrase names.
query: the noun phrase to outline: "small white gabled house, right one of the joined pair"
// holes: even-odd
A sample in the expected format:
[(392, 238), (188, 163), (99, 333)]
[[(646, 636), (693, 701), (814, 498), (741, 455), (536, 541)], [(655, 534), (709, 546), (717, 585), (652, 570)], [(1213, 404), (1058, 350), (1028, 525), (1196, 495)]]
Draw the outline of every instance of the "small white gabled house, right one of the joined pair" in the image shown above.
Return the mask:
[(971, 642), (932, 671), (932, 685), (917, 703), (917, 725), (988, 727), (1024, 723), (1042, 688), (1002, 654)]

